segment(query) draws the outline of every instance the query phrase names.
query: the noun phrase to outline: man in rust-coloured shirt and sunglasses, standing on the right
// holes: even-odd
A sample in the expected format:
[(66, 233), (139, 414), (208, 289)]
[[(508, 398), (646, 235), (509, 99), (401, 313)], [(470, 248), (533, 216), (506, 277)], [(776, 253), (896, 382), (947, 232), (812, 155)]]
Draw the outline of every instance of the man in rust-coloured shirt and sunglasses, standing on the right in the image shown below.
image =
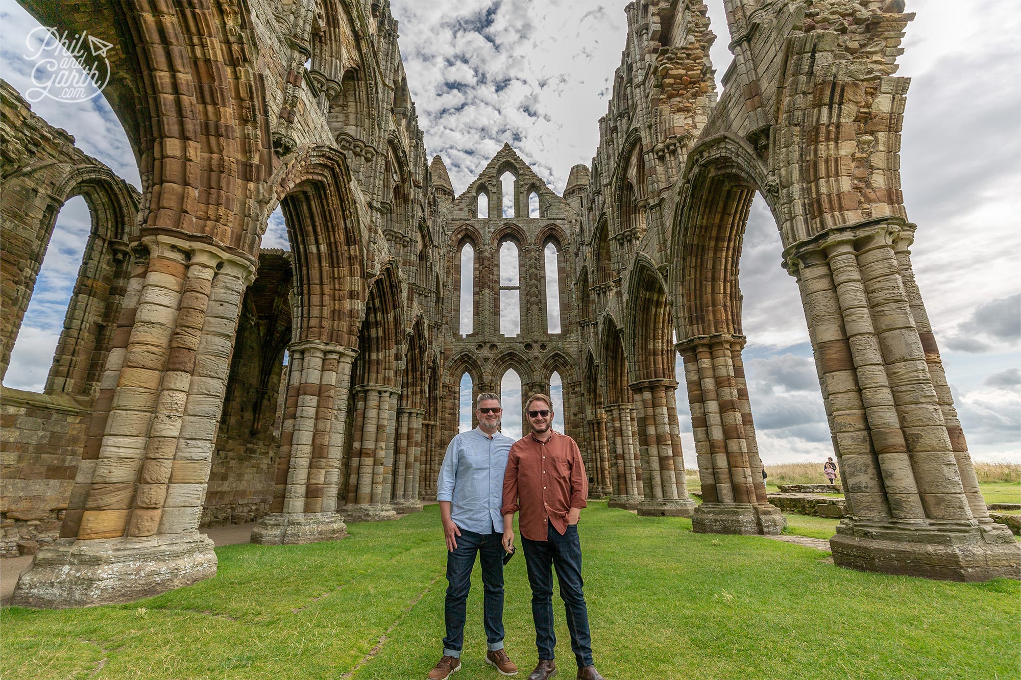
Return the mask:
[(529, 397), (525, 411), (532, 432), (510, 447), (503, 475), (503, 549), (509, 552), (514, 547), (514, 514), (520, 509), (521, 541), (532, 586), (532, 619), (539, 664), (528, 680), (547, 680), (556, 674), (551, 567), (556, 568), (561, 583), (571, 649), (578, 662), (577, 677), (603, 680), (592, 664), (578, 540), (578, 517), (586, 505), (588, 477), (575, 440), (550, 429), (553, 422), (550, 403), (545, 394)]

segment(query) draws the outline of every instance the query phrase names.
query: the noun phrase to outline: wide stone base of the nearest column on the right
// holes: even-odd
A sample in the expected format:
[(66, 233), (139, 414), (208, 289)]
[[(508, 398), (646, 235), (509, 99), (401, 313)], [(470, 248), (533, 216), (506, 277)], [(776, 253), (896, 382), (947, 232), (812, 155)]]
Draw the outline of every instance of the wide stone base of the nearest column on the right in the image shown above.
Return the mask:
[(1021, 544), (1002, 525), (850, 519), (836, 531), (830, 549), (839, 567), (943, 581), (1021, 579)]

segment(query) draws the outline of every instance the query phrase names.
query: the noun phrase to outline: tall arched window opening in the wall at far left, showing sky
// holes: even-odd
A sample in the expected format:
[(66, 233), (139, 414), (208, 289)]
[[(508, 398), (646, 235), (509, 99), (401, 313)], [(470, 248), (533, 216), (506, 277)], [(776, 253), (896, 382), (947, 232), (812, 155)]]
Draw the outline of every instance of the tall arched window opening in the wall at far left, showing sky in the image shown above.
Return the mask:
[[(36, 276), (29, 306), (10, 353), (3, 384), (14, 389), (43, 392), (57, 358), (57, 344), (65, 331), (68, 307), (75, 294), (91, 235), (89, 206), (82, 196), (67, 200), (57, 213), (42, 265)], [(66, 320), (71, 323), (72, 320)], [(66, 329), (74, 332), (76, 329)]]

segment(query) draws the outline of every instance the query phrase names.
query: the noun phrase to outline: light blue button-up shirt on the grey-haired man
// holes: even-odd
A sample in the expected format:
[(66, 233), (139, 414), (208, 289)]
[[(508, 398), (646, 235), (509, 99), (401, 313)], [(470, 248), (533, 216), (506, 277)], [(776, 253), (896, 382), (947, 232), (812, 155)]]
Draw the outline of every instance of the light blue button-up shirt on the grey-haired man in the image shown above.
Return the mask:
[(450, 501), (450, 519), (477, 534), (501, 530), (503, 471), (514, 439), (497, 432), (492, 439), (481, 429), (454, 435), (436, 482), (436, 500)]

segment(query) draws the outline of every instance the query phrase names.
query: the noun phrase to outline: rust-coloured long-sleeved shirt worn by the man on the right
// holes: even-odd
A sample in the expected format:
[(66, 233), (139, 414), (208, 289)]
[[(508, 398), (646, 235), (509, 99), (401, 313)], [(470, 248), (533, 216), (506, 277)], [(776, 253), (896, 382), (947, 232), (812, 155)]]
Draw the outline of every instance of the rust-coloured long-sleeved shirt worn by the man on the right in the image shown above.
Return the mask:
[(563, 535), (568, 513), (585, 507), (588, 477), (578, 444), (567, 435), (552, 433), (545, 442), (528, 434), (510, 447), (503, 474), (502, 515), (521, 511), (521, 535), (544, 541), (551, 524)]

